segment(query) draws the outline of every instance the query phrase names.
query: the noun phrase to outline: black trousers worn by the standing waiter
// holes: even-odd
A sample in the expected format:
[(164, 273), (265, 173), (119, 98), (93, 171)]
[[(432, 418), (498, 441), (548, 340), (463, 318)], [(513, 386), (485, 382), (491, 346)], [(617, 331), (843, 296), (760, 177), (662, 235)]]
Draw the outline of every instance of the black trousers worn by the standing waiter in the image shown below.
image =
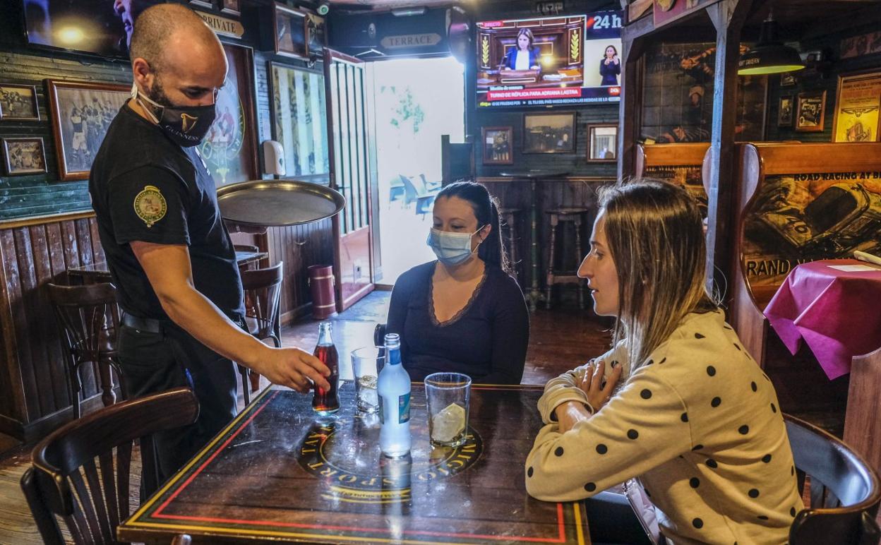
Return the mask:
[(123, 323), (117, 350), (129, 399), (190, 387), (199, 401), (196, 423), (153, 436), (161, 483), (233, 419), (236, 371), (231, 360), (196, 341), (173, 322), (158, 323), (154, 331)]

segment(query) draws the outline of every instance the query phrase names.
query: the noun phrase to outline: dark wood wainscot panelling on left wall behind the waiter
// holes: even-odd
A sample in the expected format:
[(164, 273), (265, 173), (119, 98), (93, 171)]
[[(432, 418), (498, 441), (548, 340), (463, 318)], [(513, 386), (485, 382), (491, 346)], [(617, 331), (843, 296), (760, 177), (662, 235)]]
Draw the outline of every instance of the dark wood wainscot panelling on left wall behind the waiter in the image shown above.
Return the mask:
[[(104, 261), (92, 214), (0, 224), (0, 431), (30, 439), (70, 417), (62, 338), (45, 285)], [(83, 370), (86, 398), (98, 394)]]

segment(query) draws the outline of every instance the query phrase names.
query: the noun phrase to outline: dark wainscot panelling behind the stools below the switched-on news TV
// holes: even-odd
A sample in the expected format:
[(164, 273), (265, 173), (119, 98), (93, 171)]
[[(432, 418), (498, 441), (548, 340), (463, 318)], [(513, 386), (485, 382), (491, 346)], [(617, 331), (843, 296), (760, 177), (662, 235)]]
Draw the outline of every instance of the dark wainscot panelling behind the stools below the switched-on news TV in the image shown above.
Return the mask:
[[(580, 208), (589, 211), (584, 215), (581, 225), (581, 255), (575, 254), (574, 232), (571, 228), (558, 227), (556, 263), (558, 267), (569, 270), (577, 269), (577, 263), (581, 262), (584, 254), (587, 254), (590, 230), (596, 217), (596, 189), (605, 183), (611, 183), (613, 176), (603, 178), (567, 178), (559, 180), (538, 181), (536, 183), (537, 195), (532, 195), (532, 189), (528, 180), (509, 180), (507, 178), (478, 178), (478, 181), (489, 189), (494, 195), (500, 208), (516, 208), (521, 211), (517, 214), (515, 225), (516, 258), (519, 263), (515, 264), (518, 271), (518, 283), (524, 289), (532, 282), (531, 260), (529, 257), (529, 207), (535, 200), (538, 217), (538, 247), (541, 249), (539, 257), (538, 284), (544, 289), (544, 277), (547, 271), (548, 254), (551, 239), (551, 225), (546, 210), (555, 208)], [(505, 244), (507, 246), (507, 232), (503, 227)]]

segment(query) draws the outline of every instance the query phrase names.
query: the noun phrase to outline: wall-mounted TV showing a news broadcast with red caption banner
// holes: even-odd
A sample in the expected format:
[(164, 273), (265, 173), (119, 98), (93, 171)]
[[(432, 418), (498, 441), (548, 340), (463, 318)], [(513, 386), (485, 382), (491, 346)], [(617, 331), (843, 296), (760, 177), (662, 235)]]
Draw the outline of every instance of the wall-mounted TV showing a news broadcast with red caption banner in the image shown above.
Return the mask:
[(478, 107), (618, 102), (622, 13), (478, 22)]

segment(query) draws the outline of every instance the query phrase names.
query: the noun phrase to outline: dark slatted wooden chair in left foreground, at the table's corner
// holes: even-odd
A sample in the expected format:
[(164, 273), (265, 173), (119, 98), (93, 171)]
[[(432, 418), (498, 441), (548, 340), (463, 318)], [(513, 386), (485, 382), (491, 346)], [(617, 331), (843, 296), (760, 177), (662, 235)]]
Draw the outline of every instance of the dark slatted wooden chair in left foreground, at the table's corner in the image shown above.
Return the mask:
[[(116, 543), (116, 527), (130, 514), (135, 440), (140, 439), (144, 466), (142, 489), (149, 495), (159, 487), (152, 435), (194, 423), (198, 415), (192, 390), (176, 388), (100, 409), (43, 439), (21, 477), (43, 541), (64, 543), (60, 517), (74, 543)], [(183, 538), (175, 541), (184, 543)]]

